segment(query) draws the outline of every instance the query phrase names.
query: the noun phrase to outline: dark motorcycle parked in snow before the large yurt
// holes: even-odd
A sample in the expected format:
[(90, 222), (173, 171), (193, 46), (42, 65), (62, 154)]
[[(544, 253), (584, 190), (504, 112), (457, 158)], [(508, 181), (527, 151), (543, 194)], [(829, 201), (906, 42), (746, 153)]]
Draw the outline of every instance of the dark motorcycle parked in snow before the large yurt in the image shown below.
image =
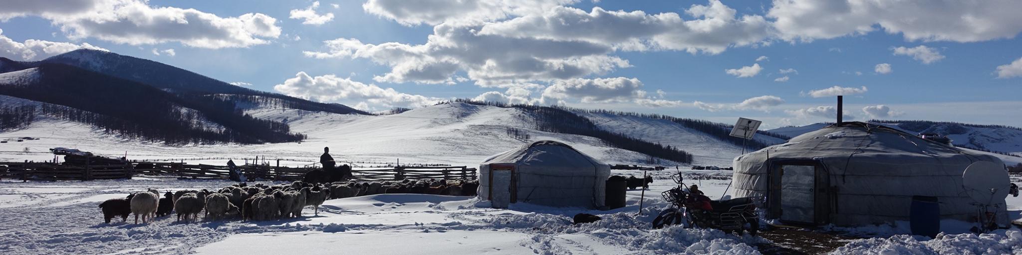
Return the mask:
[(755, 236), (759, 231), (759, 216), (756, 205), (766, 201), (764, 197), (735, 198), (715, 201), (702, 194), (692, 193), (685, 189), (681, 173), (670, 176), (677, 188), (667, 190), (660, 195), (670, 203), (670, 207), (660, 211), (653, 219), (653, 227), (682, 224), (686, 228), (717, 228), (725, 232), (748, 231)]

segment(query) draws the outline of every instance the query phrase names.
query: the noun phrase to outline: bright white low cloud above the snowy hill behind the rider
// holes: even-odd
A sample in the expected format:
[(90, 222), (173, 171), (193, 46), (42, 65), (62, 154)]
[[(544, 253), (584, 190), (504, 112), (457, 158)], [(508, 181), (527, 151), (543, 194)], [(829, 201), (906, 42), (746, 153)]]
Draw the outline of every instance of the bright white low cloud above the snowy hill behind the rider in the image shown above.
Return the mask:
[(316, 100), (320, 102), (354, 101), (372, 106), (414, 108), (432, 105), (443, 101), (440, 98), (425, 97), (399, 93), (392, 88), (380, 88), (372, 84), (363, 84), (334, 74), (310, 76), (299, 71), (294, 78), (273, 87), (273, 90), (284, 95)]

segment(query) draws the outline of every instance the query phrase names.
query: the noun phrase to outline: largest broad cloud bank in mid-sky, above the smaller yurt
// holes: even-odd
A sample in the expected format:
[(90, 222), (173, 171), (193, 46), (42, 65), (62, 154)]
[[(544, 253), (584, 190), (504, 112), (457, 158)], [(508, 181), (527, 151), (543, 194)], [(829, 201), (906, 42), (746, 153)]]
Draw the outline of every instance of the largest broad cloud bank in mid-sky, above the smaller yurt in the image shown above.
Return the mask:
[(477, 26), (436, 26), (422, 45), (364, 44), (356, 39), (326, 41), (327, 51), (306, 51), (314, 58), (367, 58), (390, 66), (377, 82), (450, 84), (455, 72), (483, 87), (549, 82), (605, 73), (631, 66), (612, 49), (588, 42), (560, 42), (531, 38), (478, 35)]

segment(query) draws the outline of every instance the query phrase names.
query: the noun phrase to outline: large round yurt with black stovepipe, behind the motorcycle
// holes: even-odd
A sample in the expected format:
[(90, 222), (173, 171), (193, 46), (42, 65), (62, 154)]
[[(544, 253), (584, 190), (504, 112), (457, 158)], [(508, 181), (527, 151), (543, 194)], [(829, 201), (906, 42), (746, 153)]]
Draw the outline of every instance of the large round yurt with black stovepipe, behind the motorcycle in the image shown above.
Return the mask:
[[(976, 201), (963, 185), (975, 162), (994, 165), (985, 183), (1003, 184), (1001, 159), (970, 153), (892, 128), (840, 122), (792, 138), (785, 144), (735, 158), (736, 197), (765, 196), (769, 218), (782, 222), (863, 225), (910, 220), (915, 196), (935, 198), (940, 219), (975, 221), (980, 206), (1007, 225), (1005, 194)], [(920, 197), (917, 197), (920, 198)]]

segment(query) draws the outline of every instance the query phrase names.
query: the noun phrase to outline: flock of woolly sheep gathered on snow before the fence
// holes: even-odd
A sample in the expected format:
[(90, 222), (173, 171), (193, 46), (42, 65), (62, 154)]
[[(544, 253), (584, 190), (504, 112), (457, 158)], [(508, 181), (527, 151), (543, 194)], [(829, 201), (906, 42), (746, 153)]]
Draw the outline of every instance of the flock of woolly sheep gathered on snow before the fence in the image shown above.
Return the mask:
[(135, 214), (135, 223), (140, 216), (143, 223), (148, 223), (172, 211), (177, 213), (178, 221), (195, 221), (203, 209), (204, 216), (215, 220), (237, 216), (244, 220), (272, 220), (299, 217), (306, 206), (313, 206), (319, 215), (319, 206), (328, 199), (400, 193), (475, 196), (478, 186), (477, 181), (446, 180), (323, 184), (297, 181), (275, 186), (235, 184), (217, 192), (204, 189), (167, 192), (162, 198), (158, 191), (149, 189), (126, 198), (106, 200), (99, 208), (106, 223), (118, 216), (127, 221), (130, 214)]

